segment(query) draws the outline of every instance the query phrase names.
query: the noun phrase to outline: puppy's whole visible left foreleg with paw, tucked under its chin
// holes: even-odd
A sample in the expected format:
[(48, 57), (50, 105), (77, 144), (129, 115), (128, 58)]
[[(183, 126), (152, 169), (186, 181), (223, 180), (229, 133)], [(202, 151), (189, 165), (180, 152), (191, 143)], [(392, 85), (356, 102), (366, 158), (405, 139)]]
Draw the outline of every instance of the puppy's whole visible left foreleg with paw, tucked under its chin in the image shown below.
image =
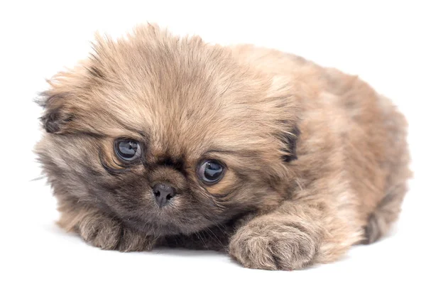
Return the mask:
[(77, 206), (61, 200), (60, 227), (76, 232), (92, 246), (105, 250), (147, 251), (155, 245), (155, 239), (125, 227), (96, 207)]

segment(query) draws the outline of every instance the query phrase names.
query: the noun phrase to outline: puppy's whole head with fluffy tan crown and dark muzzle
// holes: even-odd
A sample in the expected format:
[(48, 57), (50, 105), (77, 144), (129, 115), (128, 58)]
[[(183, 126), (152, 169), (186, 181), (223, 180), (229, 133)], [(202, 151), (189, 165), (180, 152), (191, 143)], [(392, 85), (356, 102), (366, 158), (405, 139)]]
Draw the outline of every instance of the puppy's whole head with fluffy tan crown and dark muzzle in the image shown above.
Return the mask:
[(285, 84), (152, 26), (95, 50), (41, 101), (56, 194), (157, 236), (278, 205), (297, 133)]

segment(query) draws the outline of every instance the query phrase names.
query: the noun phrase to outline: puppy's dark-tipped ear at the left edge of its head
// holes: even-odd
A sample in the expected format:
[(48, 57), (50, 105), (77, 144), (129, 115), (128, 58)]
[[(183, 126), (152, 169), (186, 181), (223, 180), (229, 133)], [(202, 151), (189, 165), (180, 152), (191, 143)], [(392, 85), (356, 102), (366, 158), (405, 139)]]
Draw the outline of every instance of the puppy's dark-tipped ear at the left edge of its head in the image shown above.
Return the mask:
[(67, 124), (72, 121), (72, 114), (65, 107), (66, 97), (64, 94), (40, 94), (38, 104), (45, 109), (40, 117), (44, 129), (48, 133), (61, 134), (67, 129)]

